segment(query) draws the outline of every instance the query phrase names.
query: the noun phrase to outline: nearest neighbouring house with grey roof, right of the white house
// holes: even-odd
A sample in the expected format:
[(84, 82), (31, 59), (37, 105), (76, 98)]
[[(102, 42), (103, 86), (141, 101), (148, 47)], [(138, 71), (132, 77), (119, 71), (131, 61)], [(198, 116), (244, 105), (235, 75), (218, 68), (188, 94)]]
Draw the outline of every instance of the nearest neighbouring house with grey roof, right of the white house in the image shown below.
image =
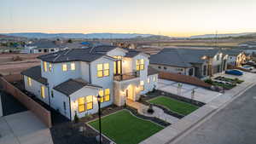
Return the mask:
[(227, 68), (227, 55), (218, 49), (162, 49), (150, 56), (150, 66), (161, 72), (207, 78)]

